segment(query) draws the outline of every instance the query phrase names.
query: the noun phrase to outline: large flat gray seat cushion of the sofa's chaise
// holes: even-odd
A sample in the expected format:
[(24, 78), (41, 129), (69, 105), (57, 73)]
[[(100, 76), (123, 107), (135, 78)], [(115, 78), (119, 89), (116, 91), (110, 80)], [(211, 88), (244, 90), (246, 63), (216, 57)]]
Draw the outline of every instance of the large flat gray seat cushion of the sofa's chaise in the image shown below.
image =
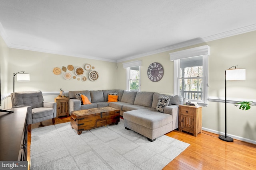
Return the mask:
[(149, 129), (157, 129), (172, 122), (172, 115), (160, 113), (154, 108), (126, 111), (123, 118)]

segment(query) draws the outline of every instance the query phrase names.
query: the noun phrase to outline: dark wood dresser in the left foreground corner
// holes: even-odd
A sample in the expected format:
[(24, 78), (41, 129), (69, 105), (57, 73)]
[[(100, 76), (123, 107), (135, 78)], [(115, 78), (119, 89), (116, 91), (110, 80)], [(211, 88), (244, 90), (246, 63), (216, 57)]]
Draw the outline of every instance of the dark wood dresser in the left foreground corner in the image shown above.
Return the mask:
[(27, 107), (0, 112), (0, 160), (27, 160)]

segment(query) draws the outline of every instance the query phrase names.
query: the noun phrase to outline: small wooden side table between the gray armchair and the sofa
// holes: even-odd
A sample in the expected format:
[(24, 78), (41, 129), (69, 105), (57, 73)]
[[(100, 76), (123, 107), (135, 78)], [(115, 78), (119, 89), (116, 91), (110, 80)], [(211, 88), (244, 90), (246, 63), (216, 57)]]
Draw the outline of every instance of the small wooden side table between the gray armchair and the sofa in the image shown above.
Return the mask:
[(69, 99), (70, 98), (62, 98), (62, 97), (54, 98), (55, 102), (57, 103), (56, 117), (69, 116)]

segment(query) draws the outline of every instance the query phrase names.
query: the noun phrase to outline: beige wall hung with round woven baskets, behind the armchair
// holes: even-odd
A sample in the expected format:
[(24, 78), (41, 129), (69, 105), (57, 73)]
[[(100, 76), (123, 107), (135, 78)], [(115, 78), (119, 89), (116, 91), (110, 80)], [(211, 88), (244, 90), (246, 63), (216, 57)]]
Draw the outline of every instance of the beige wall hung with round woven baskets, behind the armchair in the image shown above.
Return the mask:
[[(55, 67), (62, 68), (72, 64), (74, 68), (82, 67), (86, 63), (94, 66), (99, 73), (98, 80), (92, 82), (89, 79), (85, 82), (73, 79), (65, 80), (63, 78), (64, 71), (60, 75), (55, 75), (53, 69)], [(27, 51), (20, 49), (10, 49), (9, 76), (13, 77), (13, 73), (26, 71), (30, 74), (30, 82), (16, 82), (15, 91), (24, 90), (41, 90), (42, 92), (59, 92), (60, 88), (68, 92), (71, 90), (98, 90), (113, 89), (116, 84), (116, 63), (97, 61), (92, 59), (84, 59), (78, 57), (70, 57), (56, 54), (40, 53), (35, 51)], [(83, 76), (88, 78), (89, 71), (84, 69)], [(73, 71), (67, 70), (72, 76), (76, 76)], [(78, 76), (76, 76), (78, 78)], [(82, 76), (79, 76), (81, 78)], [(16, 77), (15, 77), (16, 79)], [(13, 80), (9, 83), (12, 84)], [(9, 86), (9, 92), (12, 92), (12, 86)]]

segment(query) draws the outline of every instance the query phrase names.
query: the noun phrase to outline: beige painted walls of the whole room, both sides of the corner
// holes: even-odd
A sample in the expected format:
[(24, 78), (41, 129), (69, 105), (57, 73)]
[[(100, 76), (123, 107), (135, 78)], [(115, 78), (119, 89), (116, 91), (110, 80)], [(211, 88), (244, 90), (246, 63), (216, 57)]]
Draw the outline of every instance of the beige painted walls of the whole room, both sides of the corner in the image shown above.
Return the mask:
[[(91, 59), (82, 59), (77, 57), (69, 57), (63, 55), (55, 55), (48, 53), (40, 53), (34, 51), (26, 51), (19, 49), (8, 49), (0, 39), (0, 50), (4, 51), (4, 55), (0, 52), (1, 57), (1, 78), (4, 71), (7, 70), (8, 89), (4, 80), (4, 93), (12, 92), (13, 73), (18, 71), (26, 71), (30, 73), (30, 82), (16, 82), (16, 91), (24, 90), (42, 90), (43, 92), (58, 92), (63, 88), (66, 92), (70, 90), (98, 90), (98, 89), (126, 89), (126, 69), (122, 63), (96, 61)], [(253, 100), (256, 102), (256, 31), (244, 33), (228, 38), (210, 41), (200, 45), (209, 45), (211, 47), (211, 55), (209, 57), (209, 96), (210, 98), (224, 99), (224, 70), (231, 66), (238, 65), (238, 68), (246, 69), (246, 80), (228, 82), (227, 96), (228, 98), (236, 98), (241, 100)], [(196, 47), (200, 45), (194, 45)], [(188, 49), (186, 47), (183, 49)], [(173, 94), (173, 62), (170, 61), (169, 53), (179, 51), (181, 49), (149, 55), (134, 60), (141, 60), (141, 90), (160, 92), (165, 94)], [(8, 57), (3, 57), (8, 56)], [(4, 61), (3, 61), (4, 60)], [(8, 63), (8, 66), (2, 66), (2, 62)], [(153, 63), (161, 63), (164, 67), (164, 77), (159, 82), (151, 82), (147, 77), (147, 68)], [(53, 74), (54, 67), (67, 66), (72, 64), (76, 66), (84, 66), (89, 63), (95, 66), (100, 74), (99, 80), (86, 82), (78, 80), (64, 80), (63, 73), (59, 76)], [(74, 75), (74, 74), (73, 74)], [(3, 91), (2, 91), (3, 92)], [(45, 96), (45, 100), (53, 100), (55, 96)], [(209, 131), (224, 132), (224, 103), (208, 102), (207, 107), (203, 107), (202, 123), (204, 129)], [(228, 121), (227, 132), (236, 139), (249, 142), (256, 141), (256, 106), (248, 111), (240, 110), (233, 104), (227, 104)]]

